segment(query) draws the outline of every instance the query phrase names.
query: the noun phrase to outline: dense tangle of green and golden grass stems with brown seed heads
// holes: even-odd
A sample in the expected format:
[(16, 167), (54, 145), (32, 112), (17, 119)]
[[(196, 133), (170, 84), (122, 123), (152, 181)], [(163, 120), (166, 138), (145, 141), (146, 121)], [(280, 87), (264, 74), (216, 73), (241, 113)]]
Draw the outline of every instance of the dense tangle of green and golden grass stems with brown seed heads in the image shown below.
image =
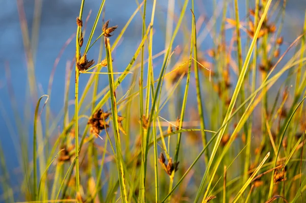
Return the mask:
[[(37, 46), (35, 36), (38, 35), (38, 22), (35, 18), (33, 37), (30, 39), (28, 27), (24, 26), (27, 23), (24, 18), (22, 1), (18, 0), (17, 2), (20, 21), (22, 22), (23, 42), (27, 53), (30, 95), (32, 99), (36, 99), (38, 93), (33, 57)], [(156, 20), (160, 20), (160, 15), (155, 15), (158, 1), (152, 1), (149, 24), (146, 22), (146, 14), (149, 13), (148, 2), (137, 2), (138, 7), (131, 18), (127, 20), (124, 27), (118, 29), (121, 30), (120, 33), (118, 34), (118, 30), (111, 33), (111, 35), (114, 35), (112, 38), (116, 38), (112, 44), (107, 28), (111, 28), (108, 27), (108, 23), (117, 24), (113, 21), (107, 21), (107, 26), (103, 22), (105, 26), (103, 26), (99, 37), (92, 42), (94, 33), (97, 32), (96, 27), (103, 13), (105, 2), (105, 0), (101, 1), (84, 46), (82, 46), (82, 43), (85, 39), (85, 26), (83, 26), (82, 19), (84, 19), (83, 8), (86, 4), (85, 0), (81, 2), (75, 41), (73, 117), (69, 121), (69, 76), (73, 75), (71, 74), (73, 73), (71, 69), (73, 62), (67, 65), (63, 110), (56, 117), (53, 117), (50, 113), (50, 106), (46, 105), (44, 132), (41, 124), (41, 113), (46, 102), (50, 101), (51, 96), (43, 95), (32, 104), (35, 108), (32, 162), (27, 161), (30, 158), (24, 151), (27, 151), (26, 149), (29, 149), (29, 146), (24, 141), (24, 137), (20, 135), (22, 138), (20, 138), (22, 153), (20, 157), (22, 160), (19, 162), (22, 165), (24, 180), (22, 181), (22, 190), (17, 192), (24, 195), (22, 199), (28, 202), (59, 200), (77, 200), (79, 202), (180, 202), (186, 199), (194, 202), (198, 202), (200, 199), (201, 202), (253, 202), (254, 200), (271, 202), (280, 198), (288, 202), (303, 202), (306, 198), (305, 159), (303, 155), (306, 128), (306, 114), (303, 105), (306, 98), (306, 71), (304, 70), (306, 65), (306, 57), (304, 56), (306, 12), (303, 33), (290, 44), (281, 56), (278, 56), (276, 51), (279, 51), (279, 46), (283, 43), (281, 27), (284, 23), (286, 1), (276, 15), (282, 15), (280, 23), (276, 19), (275, 22), (271, 19), (277, 11), (277, 7), (271, 5), (272, 0), (257, 0), (254, 8), (253, 5), (250, 5), (251, 10), (246, 12), (249, 16), (245, 18), (248, 24), (245, 28), (252, 41), (249, 47), (246, 45), (243, 49), (242, 35), (245, 30), (241, 28), (244, 24), (241, 20), (243, 15), (238, 14), (238, 1), (234, 1), (233, 7), (229, 7), (230, 2), (228, 1), (222, 2), (222, 22), (220, 35), (218, 36), (217, 25), (214, 24), (218, 18), (217, 11), (207, 24), (207, 30), (198, 32), (201, 29), (198, 29), (200, 26), (196, 23), (199, 16), (194, 14), (196, 10), (194, 1), (191, 1), (192, 9), (189, 13), (187, 9), (189, 1), (185, 0), (180, 7), (180, 15), (177, 15), (176, 18), (167, 19), (167, 26), (171, 26), (166, 30), (165, 50), (153, 55), (154, 28), (157, 27)], [(168, 6), (168, 16), (172, 16), (174, 2), (170, 1)], [(36, 4), (35, 7), (38, 15), (40, 6)], [(214, 1), (214, 8), (215, 10), (218, 9), (217, 1)], [(234, 20), (226, 18), (228, 8), (235, 8), (233, 10)], [(112, 51), (116, 48), (126, 28), (138, 12), (142, 16), (140, 43), (124, 71), (116, 73), (114, 71), (116, 67), (113, 67), (112, 64)], [(250, 22), (252, 21), (250, 16), (254, 18), (253, 22)], [(107, 16), (105, 17), (107, 18)], [(225, 44), (226, 22), (234, 27), (232, 31), (235, 39), (232, 39), (232, 44), (237, 45), (237, 52), (231, 45), (226, 46)], [(173, 24), (176, 24), (176, 26), (172, 33)], [(272, 32), (272, 25), (278, 27), (276, 34), (273, 34), (275, 30)], [(183, 52), (179, 57), (174, 53), (175, 50), (172, 51), (172, 46), (180, 29), (188, 39), (185, 40), (186, 44), (183, 44)], [(202, 51), (201, 46), (202, 36), (207, 35), (210, 31), (212, 31), (215, 45), (210, 52), (212, 54), (208, 55), (211, 55), (213, 63), (218, 66), (218, 68), (211, 70), (211, 80), (203, 73), (205, 70), (202, 68), (202, 64), (206, 63), (204, 56), (206, 53)], [(198, 40), (198, 38), (201, 39)], [(87, 57), (89, 58), (91, 55), (89, 50), (96, 47), (94, 45), (99, 40), (99, 59), (93, 65), (90, 60), (84, 57), (84, 54), (88, 54)], [(272, 48), (268, 49), (272, 44)], [(286, 61), (285, 55), (290, 54), (290, 49), (294, 46), (296, 46), (295, 52)], [(105, 50), (105, 60), (102, 57), (103, 50)], [(243, 50), (247, 50), (244, 62)], [(237, 53), (238, 81), (231, 94), (231, 89), (228, 88), (230, 85), (226, 82), (233, 80), (233, 78), (226, 76), (224, 70), (227, 70), (230, 61), (234, 60), (231, 57), (233, 51)], [(140, 53), (141, 57), (138, 57)], [(162, 64), (157, 63), (157, 68), (154, 68), (153, 60), (160, 55), (164, 56)], [(173, 66), (172, 62), (175, 56), (179, 57), (177, 60), (179, 65), (175, 64)], [(136, 63), (138, 58), (141, 59)], [(187, 61), (184, 61), (185, 59)], [(276, 62), (274, 65), (270, 64), (272, 59)], [(87, 66), (80, 66), (81, 62), (83, 62), (83, 65), (84, 63), (87, 64)], [(147, 69), (145, 68), (146, 63)], [(282, 67), (279, 66), (281, 64)], [(107, 72), (103, 71), (103, 66), (107, 66)], [(276, 69), (276, 66), (278, 69)], [(186, 69), (179, 72), (184, 67)], [(257, 67), (260, 67), (261, 72), (257, 71)], [(172, 70), (166, 73), (169, 68), (172, 68)], [(93, 72), (89, 72), (89, 70), (93, 70)], [(160, 71), (157, 79), (154, 77), (156, 75), (154, 70)], [(147, 72), (146, 78), (144, 77), (145, 71)], [(177, 72), (180, 74), (177, 75), (176, 80), (168, 79), (171, 74), (177, 74)], [(91, 77), (79, 98), (79, 77), (82, 77), (85, 73), (91, 74)], [(131, 73), (133, 77), (130, 86), (127, 89), (121, 89), (120, 83)], [(10, 76), (9, 69), (6, 69), (6, 74), (8, 77)], [(108, 75), (108, 85), (101, 91), (98, 88), (100, 74)], [(116, 77), (117, 74), (120, 76)], [(259, 74), (262, 76), (262, 81), (257, 84)], [(275, 101), (272, 102), (272, 107), (270, 107), (269, 99), (273, 98), (273, 95), (268, 97), (267, 93), (286, 74), (287, 78), (278, 90), (279, 96), (276, 96)], [(106, 76), (102, 75), (101, 77)], [(137, 83), (138, 78), (139, 83)], [(146, 84), (144, 84), (145, 79)], [(52, 82), (53, 76), (50, 76), (50, 84)], [(170, 85), (167, 84), (167, 88), (163, 88), (165, 82), (170, 83)], [(235, 82), (232, 81), (232, 83)], [(295, 86), (294, 88), (283, 88), (288, 84), (294, 84)], [(180, 91), (181, 85), (182, 87), (185, 85), (184, 94)], [(213, 89), (213, 86), (218, 86), (219, 90)], [(196, 101), (194, 103), (190, 100), (191, 88), (195, 90)], [(91, 101), (86, 103), (86, 98), (90, 98), (91, 89), (93, 89)], [(288, 94), (290, 90), (293, 90), (292, 95)], [(145, 95), (143, 91), (145, 91)], [(12, 104), (15, 105), (14, 95), (12, 91), (10, 93)], [(50, 93), (50, 89), (48, 89), (48, 93)], [(206, 97), (207, 95), (209, 95), (209, 99)], [(230, 102), (226, 101), (228, 96), (231, 97)], [(44, 97), (47, 99), (44, 105), (41, 105)], [(277, 101), (278, 98), (282, 100)], [(175, 110), (176, 103), (181, 104), (178, 111)], [(171, 105), (169, 115), (164, 114), (163, 107), (166, 104)], [(285, 108), (286, 104), (288, 109)], [(31, 104), (29, 103), (29, 105)], [(189, 125), (188, 122), (191, 121), (186, 115), (190, 114), (192, 105), (196, 106), (195, 114), (199, 122)], [(42, 106), (41, 110), (39, 110), (40, 106)], [(259, 106), (262, 112), (260, 115), (261, 121), (252, 118), (254, 109)], [(0, 107), (1, 114), (6, 118), (6, 111), (2, 108), (1, 99)], [(100, 109), (104, 110), (103, 112), (107, 113), (110, 118), (108, 118), (108, 115), (100, 118), (99, 122), (102, 125), (100, 127), (103, 128), (103, 131), (101, 135), (97, 135), (98, 133), (92, 130), (93, 124), (90, 120)], [(88, 111), (91, 113), (89, 116), (85, 115)], [(123, 113), (125, 114), (122, 117), (121, 114)], [(54, 147), (48, 150), (49, 138), (55, 134), (62, 116), (64, 117), (63, 130), (58, 135)], [(171, 117), (178, 117), (176, 123), (171, 121)], [(29, 118), (29, 112), (25, 112), (25, 118)], [(81, 126), (84, 126), (84, 118), (89, 118), (89, 122), (85, 123), (83, 133), (79, 133)], [(85, 119), (86, 122), (87, 119)], [(170, 120), (170, 123), (163, 122), (163, 120)], [(121, 122), (123, 122), (123, 125)], [(6, 123), (10, 126), (7, 119)], [(19, 119), (16, 119), (16, 124), (18, 132), (26, 134), (23, 132), (25, 126), (22, 126)], [(109, 131), (108, 126), (112, 127), (112, 131)], [(174, 131), (173, 127), (175, 127)], [(260, 129), (259, 136), (256, 134), (255, 128)], [(10, 129), (11, 132), (14, 132), (12, 127)], [(91, 129), (90, 133), (88, 132), (89, 129)], [(104, 132), (106, 136), (103, 136)], [(199, 139), (197, 138), (194, 142), (191, 137), (197, 132), (199, 134), (195, 136), (199, 136)], [(79, 140), (79, 134), (82, 136), (81, 140)], [(98, 136), (102, 136), (103, 140), (96, 139)], [(169, 139), (166, 140), (166, 137)], [(172, 138), (170, 139), (170, 137)], [(257, 137), (262, 137), (263, 140), (258, 141), (256, 140)], [(239, 140), (237, 140), (238, 138)], [(73, 139), (74, 146), (72, 144)], [(201, 144), (195, 144), (197, 142), (201, 142)], [(213, 142), (214, 147), (210, 147)], [(100, 147), (100, 143), (103, 143), (104, 147)], [(159, 145), (159, 143), (161, 144)], [(0, 142), (0, 152), (3, 151), (1, 144), (3, 145), (3, 143)], [(15, 145), (17, 146), (17, 144)], [(151, 148), (153, 148), (152, 151), (150, 151)], [(158, 158), (158, 152), (166, 156), (162, 155)], [(203, 154), (204, 156), (202, 156)], [(239, 162), (238, 158), (240, 157), (242, 157), (242, 161)], [(17, 192), (9, 181), (8, 171), (10, 170), (6, 166), (6, 158), (3, 153), (0, 153), (0, 161), (1, 184), (4, 188), (4, 195), (1, 198), (7, 202), (12, 202), (16, 200), (13, 194)], [(56, 166), (54, 163), (56, 163)], [(204, 164), (205, 167), (203, 167)], [(222, 164), (224, 170), (221, 167)], [(53, 178), (49, 180), (48, 177)], [(199, 181), (200, 178), (202, 178), (201, 181)], [(205, 192), (203, 192), (204, 190)]]

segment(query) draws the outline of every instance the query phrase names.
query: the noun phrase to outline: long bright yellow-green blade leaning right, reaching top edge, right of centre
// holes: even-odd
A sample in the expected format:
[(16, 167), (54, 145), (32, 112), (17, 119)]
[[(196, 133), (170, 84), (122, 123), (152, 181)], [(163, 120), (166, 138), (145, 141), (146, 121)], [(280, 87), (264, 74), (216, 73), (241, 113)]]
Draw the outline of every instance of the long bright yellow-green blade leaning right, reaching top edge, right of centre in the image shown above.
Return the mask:
[(236, 99), (237, 99), (237, 97), (238, 97), (240, 88), (241, 88), (241, 86), (242, 86), (242, 84), (243, 84), (244, 75), (245, 75), (245, 73), (246, 73), (246, 71), (247, 71), (247, 68), (248, 68), (248, 64), (249, 64), (250, 57), (251, 57), (251, 54), (252, 54), (252, 51), (253, 51), (253, 48), (254, 48), (254, 44), (255, 44), (256, 41), (257, 41), (257, 37), (258, 37), (259, 31), (260, 31), (260, 28), (261, 28), (261, 26), (262, 26), (262, 24), (263, 24), (263, 21), (264, 21), (266, 15), (267, 15), (267, 13), (268, 13), (268, 9), (269, 9), (269, 6), (270, 6), (270, 4), (271, 4), (271, 1), (272, 1), (272, 0), (269, 0), (269, 1), (267, 2), (267, 6), (266, 6), (266, 8), (265, 8), (265, 10), (264, 10), (264, 12), (263, 12), (263, 15), (262, 15), (262, 18), (261, 18), (261, 20), (260, 20), (260, 22), (259, 22), (259, 25), (258, 25), (258, 27), (257, 27), (256, 33), (254, 34), (254, 37), (253, 37), (253, 40), (252, 40), (252, 42), (251, 42), (250, 48), (249, 48), (248, 53), (247, 53), (247, 55), (246, 55), (246, 59), (245, 59), (244, 65), (243, 65), (243, 67), (242, 67), (241, 73), (240, 73), (239, 78), (238, 78), (238, 82), (237, 82), (237, 85), (236, 85), (236, 89), (235, 89), (235, 91), (234, 91), (234, 93), (233, 93), (233, 97), (232, 97), (231, 103), (230, 103), (230, 105), (228, 106), (228, 109), (227, 109), (227, 112), (226, 112), (226, 115), (225, 115), (225, 118), (224, 118), (224, 121), (223, 121), (223, 124), (222, 124), (222, 126), (225, 125), (225, 127), (222, 128), (222, 130), (220, 131), (220, 133), (219, 133), (219, 135), (218, 135), (218, 137), (217, 137), (217, 140), (216, 140), (214, 149), (213, 149), (213, 151), (212, 151), (212, 154), (211, 154), (209, 163), (208, 163), (208, 165), (207, 165), (205, 174), (204, 174), (204, 176), (203, 176), (203, 178), (202, 178), (202, 181), (201, 181), (200, 187), (199, 187), (199, 189), (198, 189), (198, 191), (197, 191), (196, 198), (195, 198), (194, 202), (197, 202), (197, 200), (198, 200), (199, 197), (200, 197), (200, 194), (201, 194), (203, 185), (204, 185), (205, 180), (206, 180), (206, 178), (207, 178), (207, 175), (208, 175), (208, 173), (209, 173), (209, 169), (210, 169), (211, 164), (212, 164), (212, 162), (213, 162), (213, 159), (214, 159), (214, 157), (215, 157), (215, 155), (216, 155), (216, 152), (217, 152), (217, 149), (218, 149), (218, 147), (219, 147), (219, 144), (220, 144), (220, 141), (221, 141), (221, 139), (222, 139), (222, 136), (223, 136), (223, 134), (224, 134), (224, 132), (225, 132), (225, 130), (226, 130), (227, 122), (225, 122), (225, 121), (227, 121), (228, 118), (231, 117), (231, 114), (232, 114), (234, 105), (235, 105), (235, 103), (236, 103)]

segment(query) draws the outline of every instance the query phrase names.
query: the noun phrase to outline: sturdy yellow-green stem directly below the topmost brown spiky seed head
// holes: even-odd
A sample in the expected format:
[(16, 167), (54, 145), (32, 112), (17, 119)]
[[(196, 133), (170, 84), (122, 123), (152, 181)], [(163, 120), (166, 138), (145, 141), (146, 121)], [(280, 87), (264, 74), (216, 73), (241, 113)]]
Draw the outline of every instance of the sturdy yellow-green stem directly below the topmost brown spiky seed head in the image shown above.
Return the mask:
[[(105, 47), (106, 47), (108, 72), (113, 73), (111, 46), (110, 46), (109, 38), (106, 38), (106, 37), (105, 37)], [(122, 153), (121, 153), (121, 141), (120, 141), (120, 134), (119, 134), (119, 126), (118, 126), (118, 112), (117, 112), (116, 93), (115, 93), (116, 89), (115, 89), (113, 74), (109, 74), (109, 85), (110, 85), (110, 94), (111, 94), (113, 131), (114, 131), (115, 144), (116, 144), (116, 155), (118, 159), (117, 169), (118, 169), (119, 183), (121, 185), (120, 192), (122, 196), (122, 202), (127, 202), (127, 191), (126, 191), (125, 178), (124, 178), (123, 159), (122, 159)]]

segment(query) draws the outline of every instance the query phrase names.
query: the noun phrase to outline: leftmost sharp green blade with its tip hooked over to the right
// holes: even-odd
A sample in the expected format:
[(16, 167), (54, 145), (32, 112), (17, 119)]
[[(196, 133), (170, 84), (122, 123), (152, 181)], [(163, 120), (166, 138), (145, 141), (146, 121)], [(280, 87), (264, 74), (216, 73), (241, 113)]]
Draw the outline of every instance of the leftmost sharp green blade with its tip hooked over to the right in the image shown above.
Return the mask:
[(34, 176), (34, 185), (33, 185), (33, 199), (34, 200), (38, 200), (38, 196), (37, 196), (37, 155), (36, 155), (36, 150), (37, 150), (37, 133), (36, 133), (36, 129), (37, 129), (37, 119), (40, 115), (38, 115), (38, 110), (39, 110), (39, 104), (42, 98), (47, 97), (44, 105), (47, 103), (49, 96), (48, 95), (43, 95), (41, 96), (36, 104), (35, 107), (35, 113), (34, 113), (34, 130), (33, 130), (33, 176)]

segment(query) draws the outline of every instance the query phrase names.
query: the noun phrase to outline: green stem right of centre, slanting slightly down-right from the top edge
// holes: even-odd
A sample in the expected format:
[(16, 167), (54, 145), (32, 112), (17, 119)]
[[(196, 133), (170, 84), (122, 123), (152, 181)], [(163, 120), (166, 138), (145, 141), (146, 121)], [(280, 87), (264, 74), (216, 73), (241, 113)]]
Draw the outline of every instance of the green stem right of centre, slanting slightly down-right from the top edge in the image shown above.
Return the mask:
[[(194, 0), (192, 0), (192, 10), (194, 11)], [(194, 29), (196, 29), (196, 27), (194, 26)], [(197, 57), (197, 43), (196, 43), (196, 31), (194, 31), (194, 46), (193, 46), (193, 55), (194, 55), (194, 59), (196, 61), (198, 61), (198, 57)], [(195, 77), (195, 88), (196, 88), (196, 101), (197, 101), (197, 108), (198, 108), (198, 112), (199, 112), (199, 119), (200, 119), (200, 128), (201, 129), (205, 129), (205, 120), (204, 120), (204, 110), (203, 110), (203, 106), (202, 106), (202, 96), (201, 96), (201, 88), (200, 88), (200, 77), (199, 77), (199, 69), (198, 69), (198, 64), (194, 63), (194, 77)], [(201, 136), (202, 136), (202, 143), (203, 143), (203, 147), (206, 146), (207, 144), (207, 137), (206, 137), (206, 133), (204, 131), (201, 132)], [(207, 150), (204, 154), (204, 159), (205, 159), (205, 163), (208, 163), (208, 159), (209, 159), (209, 151)]]

